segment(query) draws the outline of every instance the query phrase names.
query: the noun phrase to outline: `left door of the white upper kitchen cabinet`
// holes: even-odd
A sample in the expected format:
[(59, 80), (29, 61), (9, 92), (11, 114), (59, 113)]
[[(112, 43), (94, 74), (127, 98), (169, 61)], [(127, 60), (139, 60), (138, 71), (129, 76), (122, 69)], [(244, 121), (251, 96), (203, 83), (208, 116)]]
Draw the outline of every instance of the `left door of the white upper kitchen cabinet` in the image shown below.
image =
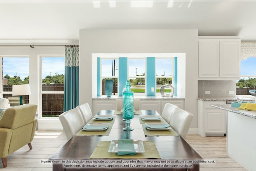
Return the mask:
[(199, 78), (218, 78), (219, 41), (199, 41)]

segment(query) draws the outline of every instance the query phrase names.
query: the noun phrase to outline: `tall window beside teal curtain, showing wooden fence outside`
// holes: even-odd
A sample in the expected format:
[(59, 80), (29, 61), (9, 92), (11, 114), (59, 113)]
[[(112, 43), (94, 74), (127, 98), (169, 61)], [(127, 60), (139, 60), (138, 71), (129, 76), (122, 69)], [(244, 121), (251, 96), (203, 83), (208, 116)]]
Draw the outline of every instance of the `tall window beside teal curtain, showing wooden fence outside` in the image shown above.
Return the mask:
[(64, 105), (64, 56), (41, 56), (42, 117), (58, 117)]

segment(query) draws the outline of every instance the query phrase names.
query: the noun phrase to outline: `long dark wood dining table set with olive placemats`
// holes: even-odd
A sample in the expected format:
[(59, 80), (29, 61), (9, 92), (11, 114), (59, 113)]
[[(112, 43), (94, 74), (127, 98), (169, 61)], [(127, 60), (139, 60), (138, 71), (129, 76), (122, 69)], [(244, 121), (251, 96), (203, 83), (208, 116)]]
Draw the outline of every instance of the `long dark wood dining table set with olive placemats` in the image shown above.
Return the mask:
[[(164, 118), (157, 111), (135, 111), (133, 119), (130, 120), (132, 131), (123, 130), (126, 121), (120, 111), (102, 110), (97, 115), (113, 115), (112, 120), (99, 121), (92, 118), (88, 122), (108, 123), (110, 125), (108, 129), (104, 131), (81, 129), (49, 158), (53, 171), (199, 171), (202, 157), (174, 129), (158, 131), (146, 129), (145, 124), (165, 123)], [(142, 119), (143, 116), (158, 116), (160, 119), (145, 120)], [(142, 143), (143, 151), (140, 149), (136, 154), (126, 155), (118, 155), (116, 151), (110, 151), (113, 142), (128, 139)], [(134, 143), (135, 146), (139, 149), (140, 145)]]

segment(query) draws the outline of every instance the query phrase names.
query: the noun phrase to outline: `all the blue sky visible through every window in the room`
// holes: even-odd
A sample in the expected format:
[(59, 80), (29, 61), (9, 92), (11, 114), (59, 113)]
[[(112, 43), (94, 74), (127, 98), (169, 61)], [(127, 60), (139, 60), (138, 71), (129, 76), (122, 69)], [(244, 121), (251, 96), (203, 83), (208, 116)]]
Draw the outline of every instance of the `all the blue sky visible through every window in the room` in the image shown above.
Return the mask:
[[(105, 66), (108, 66), (107, 70), (102, 71), (103, 76), (112, 76), (112, 60), (102, 60)], [(145, 72), (145, 60), (129, 60), (129, 75), (135, 76), (136, 75), (136, 68), (137, 74), (141, 75)], [(118, 66), (118, 60), (116, 60), (116, 66)], [(166, 76), (172, 75), (172, 66), (171, 60), (166, 59), (158, 59), (156, 60), (156, 74), (161, 76), (162, 74)], [(64, 57), (62, 58), (42, 58), (42, 78), (46, 76), (58, 74), (64, 74)], [(16, 73), (22, 80), (28, 76), (28, 58), (3, 58), (3, 76), (8, 74), (10, 77), (16, 76)], [(256, 76), (256, 58), (251, 57), (247, 60), (242, 60), (241, 62), (241, 76)], [(118, 72), (115, 73), (115, 76), (118, 76)]]

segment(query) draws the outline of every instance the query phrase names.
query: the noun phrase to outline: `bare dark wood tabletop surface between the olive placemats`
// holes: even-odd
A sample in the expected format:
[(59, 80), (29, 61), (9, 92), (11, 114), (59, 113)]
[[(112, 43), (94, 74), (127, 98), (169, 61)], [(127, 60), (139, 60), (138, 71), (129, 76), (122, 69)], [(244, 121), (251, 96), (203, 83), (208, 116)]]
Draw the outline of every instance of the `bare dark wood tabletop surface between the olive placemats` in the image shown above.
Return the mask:
[[(147, 113), (158, 115), (156, 111), (142, 111), (143, 115)], [(90, 160), (99, 141), (117, 139), (154, 141), (161, 158), (165, 160), (202, 160), (202, 157), (180, 136), (145, 136), (139, 116), (134, 115), (131, 119), (130, 127), (134, 129), (133, 131), (123, 131), (125, 121), (122, 120), (122, 115), (116, 115), (109, 136), (74, 136), (49, 160)]]

